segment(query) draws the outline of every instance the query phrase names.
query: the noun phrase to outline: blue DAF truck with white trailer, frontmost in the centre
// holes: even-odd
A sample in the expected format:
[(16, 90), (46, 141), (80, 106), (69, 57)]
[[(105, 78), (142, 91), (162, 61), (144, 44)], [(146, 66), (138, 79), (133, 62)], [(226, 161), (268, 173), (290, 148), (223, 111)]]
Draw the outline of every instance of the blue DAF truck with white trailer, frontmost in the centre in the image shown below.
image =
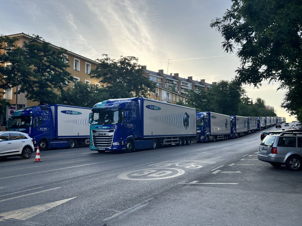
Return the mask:
[(90, 149), (131, 152), (158, 145), (189, 145), (196, 137), (196, 110), (142, 97), (109, 99), (89, 115)]

